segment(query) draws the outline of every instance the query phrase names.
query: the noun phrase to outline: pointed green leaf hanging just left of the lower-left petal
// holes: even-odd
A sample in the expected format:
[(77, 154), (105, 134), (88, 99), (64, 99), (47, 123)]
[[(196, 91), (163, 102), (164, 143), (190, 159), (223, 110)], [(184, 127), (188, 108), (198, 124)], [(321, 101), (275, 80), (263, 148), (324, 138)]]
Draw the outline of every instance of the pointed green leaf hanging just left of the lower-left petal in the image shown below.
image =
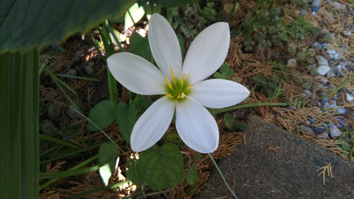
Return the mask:
[(136, 122), (135, 104), (119, 103), (116, 107), (115, 119), (123, 137), (130, 143), (130, 135)]

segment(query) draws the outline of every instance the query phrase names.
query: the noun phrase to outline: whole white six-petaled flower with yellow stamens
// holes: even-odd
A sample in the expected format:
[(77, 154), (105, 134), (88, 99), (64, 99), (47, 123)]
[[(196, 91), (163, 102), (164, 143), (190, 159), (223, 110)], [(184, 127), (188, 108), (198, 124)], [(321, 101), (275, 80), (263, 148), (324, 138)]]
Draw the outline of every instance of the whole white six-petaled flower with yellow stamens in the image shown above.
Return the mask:
[(136, 122), (130, 140), (132, 149), (140, 152), (159, 141), (176, 109), (176, 129), (183, 142), (198, 152), (213, 152), (218, 146), (219, 129), (205, 107), (233, 106), (250, 94), (234, 81), (204, 80), (225, 60), (230, 42), (228, 24), (218, 22), (203, 30), (190, 45), (183, 66), (177, 36), (169, 22), (157, 13), (150, 18), (148, 38), (160, 70), (129, 52), (107, 59), (114, 78), (130, 91), (165, 95)]

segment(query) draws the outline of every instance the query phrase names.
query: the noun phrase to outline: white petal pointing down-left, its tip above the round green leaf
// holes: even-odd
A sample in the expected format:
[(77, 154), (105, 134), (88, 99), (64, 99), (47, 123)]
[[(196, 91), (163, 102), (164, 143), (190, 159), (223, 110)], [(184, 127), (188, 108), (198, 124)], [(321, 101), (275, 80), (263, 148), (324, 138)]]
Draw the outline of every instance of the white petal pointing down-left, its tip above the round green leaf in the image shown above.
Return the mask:
[(133, 151), (141, 152), (161, 139), (171, 124), (175, 105), (170, 98), (161, 97), (140, 116), (130, 137)]

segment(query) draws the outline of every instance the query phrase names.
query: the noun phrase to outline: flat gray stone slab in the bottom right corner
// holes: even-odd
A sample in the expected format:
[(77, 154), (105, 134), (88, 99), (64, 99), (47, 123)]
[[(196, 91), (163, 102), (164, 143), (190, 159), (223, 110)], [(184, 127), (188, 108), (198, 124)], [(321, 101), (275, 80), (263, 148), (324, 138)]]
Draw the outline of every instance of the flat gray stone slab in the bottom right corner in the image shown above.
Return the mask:
[[(247, 120), (246, 145), (218, 161), (239, 199), (354, 199), (354, 164), (297, 135), (252, 116)], [(267, 150), (280, 147), (278, 153)], [(331, 162), (333, 178), (316, 171)], [(207, 185), (194, 198), (219, 198), (229, 192), (213, 169)]]

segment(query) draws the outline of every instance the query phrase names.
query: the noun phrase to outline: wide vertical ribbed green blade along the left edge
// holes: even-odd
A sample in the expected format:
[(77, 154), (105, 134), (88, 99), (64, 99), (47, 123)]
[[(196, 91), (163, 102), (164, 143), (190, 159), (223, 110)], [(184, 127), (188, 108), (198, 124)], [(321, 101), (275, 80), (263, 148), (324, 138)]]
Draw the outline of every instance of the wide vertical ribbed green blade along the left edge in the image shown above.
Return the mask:
[(38, 198), (38, 56), (37, 50), (0, 54), (1, 198)]

